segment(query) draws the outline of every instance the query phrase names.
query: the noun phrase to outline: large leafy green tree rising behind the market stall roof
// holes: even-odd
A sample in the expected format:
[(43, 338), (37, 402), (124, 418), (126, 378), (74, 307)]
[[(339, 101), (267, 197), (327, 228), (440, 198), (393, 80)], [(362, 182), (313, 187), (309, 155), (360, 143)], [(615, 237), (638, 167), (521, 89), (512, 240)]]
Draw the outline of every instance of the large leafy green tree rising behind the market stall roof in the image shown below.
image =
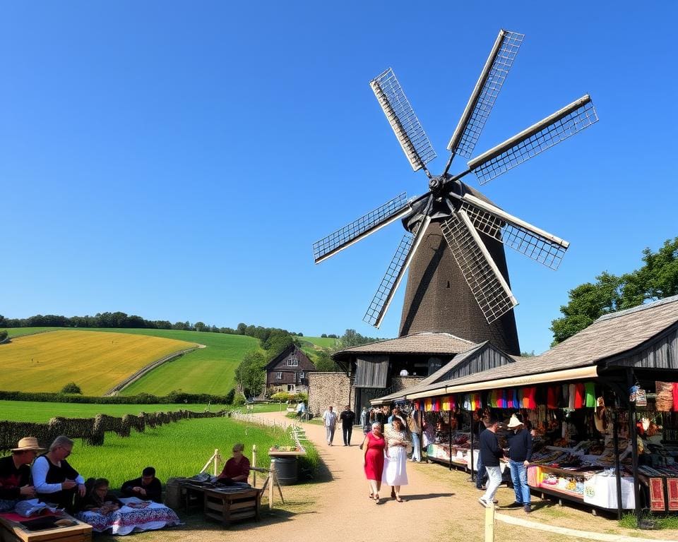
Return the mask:
[(678, 237), (667, 239), (657, 252), (646, 248), (642, 260), (642, 267), (626, 275), (602, 272), (595, 283), (586, 282), (570, 290), (569, 302), (560, 308), (563, 316), (551, 323), (552, 346), (604, 314), (678, 294)]

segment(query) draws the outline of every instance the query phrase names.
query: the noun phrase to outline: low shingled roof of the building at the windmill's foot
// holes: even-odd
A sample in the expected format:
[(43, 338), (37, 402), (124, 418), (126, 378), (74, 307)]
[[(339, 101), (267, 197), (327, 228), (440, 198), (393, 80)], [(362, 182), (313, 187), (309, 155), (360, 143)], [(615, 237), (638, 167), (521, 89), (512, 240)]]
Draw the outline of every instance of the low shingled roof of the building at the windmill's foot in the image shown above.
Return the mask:
[(475, 347), (474, 342), (460, 339), (450, 333), (423, 332), (405, 335), (398, 339), (361, 344), (338, 351), (332, 357), (335, 361), (343, 361), (352, 354), (458, 354)]

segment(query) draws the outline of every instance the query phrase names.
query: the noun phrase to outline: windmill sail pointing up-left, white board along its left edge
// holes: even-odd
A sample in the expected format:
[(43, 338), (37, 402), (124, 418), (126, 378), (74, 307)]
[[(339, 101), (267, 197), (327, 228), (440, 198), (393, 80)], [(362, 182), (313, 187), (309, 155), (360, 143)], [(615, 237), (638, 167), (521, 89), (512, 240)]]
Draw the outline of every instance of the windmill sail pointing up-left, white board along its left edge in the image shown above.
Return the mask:
[(436, 151), (429, 141), (424, 128), (417, 119), (408, 98), (405, 97), (403, 88), (400, 87), (396, 75), (391, 68), (388, 68), (380, 76), (369, 82), (369, 86), (374, 91), (379, 105), (383, 109), (383, 114), (391, 124), (393, 132), (396, 133), (400, 147), (403, 147), (405, 156), (412, 166), (412, 169), (426, 169), (426, 164), (436, 157)]

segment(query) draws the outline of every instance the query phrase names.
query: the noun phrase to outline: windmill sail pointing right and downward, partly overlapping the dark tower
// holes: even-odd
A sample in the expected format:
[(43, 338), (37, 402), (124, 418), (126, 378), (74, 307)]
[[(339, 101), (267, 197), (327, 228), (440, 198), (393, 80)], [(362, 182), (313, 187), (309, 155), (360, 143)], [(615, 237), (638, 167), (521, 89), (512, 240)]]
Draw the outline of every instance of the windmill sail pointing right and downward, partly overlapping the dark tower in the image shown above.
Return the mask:
[(494, 237), (552, 270), (557, 270), (570, 246), (567, 241), (509, 215), (474, 195), (464, 195), (461, 209), (477, 231)]

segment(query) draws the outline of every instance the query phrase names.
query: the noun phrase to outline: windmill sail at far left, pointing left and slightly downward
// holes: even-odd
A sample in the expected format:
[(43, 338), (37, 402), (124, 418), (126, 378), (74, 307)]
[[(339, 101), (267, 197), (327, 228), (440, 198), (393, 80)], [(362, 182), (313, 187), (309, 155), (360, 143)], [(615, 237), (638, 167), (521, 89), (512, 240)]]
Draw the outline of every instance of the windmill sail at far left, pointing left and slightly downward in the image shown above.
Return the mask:
[(313, 255), (316, 263), (326, 260), (347, 246), (404, 217), (408, 212), (410, 212), (408, 195), (403, 192), (381, 205), (381, 207), (368, 212), (367, 215), (354, 220), (334, 233), (323, 237), (320, 241), (313, 243)]

